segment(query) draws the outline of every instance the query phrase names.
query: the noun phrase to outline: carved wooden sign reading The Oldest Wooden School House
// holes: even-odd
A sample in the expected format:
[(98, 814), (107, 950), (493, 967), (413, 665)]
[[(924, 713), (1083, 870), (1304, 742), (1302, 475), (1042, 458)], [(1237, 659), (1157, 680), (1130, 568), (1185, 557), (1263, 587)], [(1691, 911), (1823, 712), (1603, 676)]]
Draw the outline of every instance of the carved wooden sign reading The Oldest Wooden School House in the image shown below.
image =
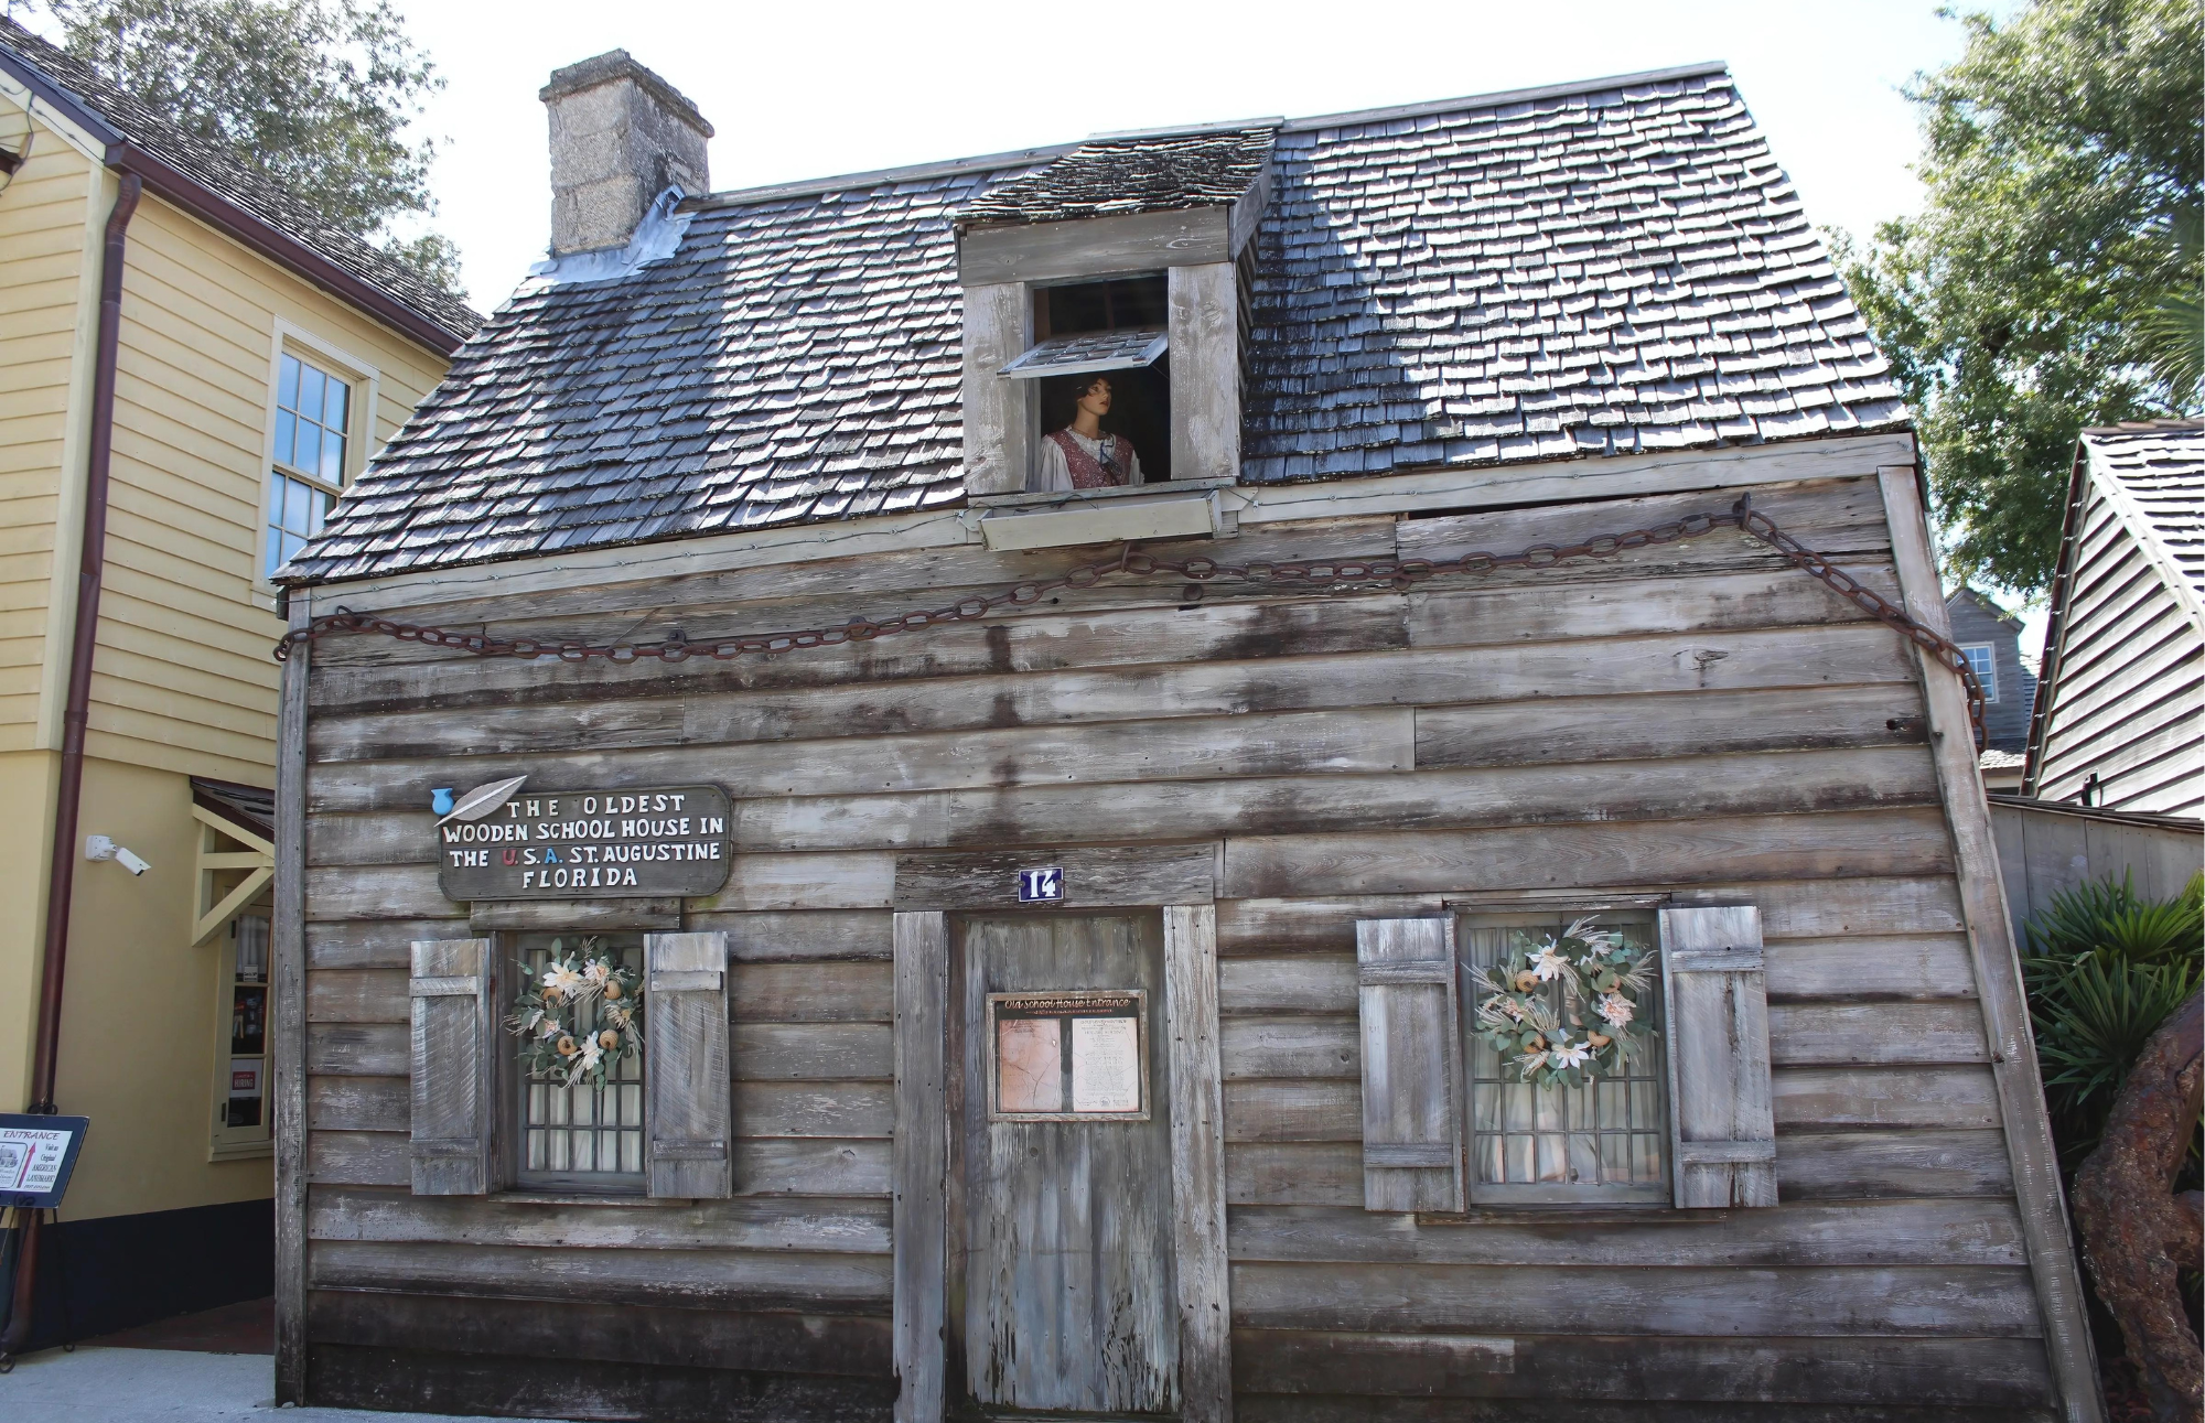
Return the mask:
[(437, 822), (445, 899), (688, 899), (728, 883), (719, 786), (512, 791), (476, 819), (459, 804)]

